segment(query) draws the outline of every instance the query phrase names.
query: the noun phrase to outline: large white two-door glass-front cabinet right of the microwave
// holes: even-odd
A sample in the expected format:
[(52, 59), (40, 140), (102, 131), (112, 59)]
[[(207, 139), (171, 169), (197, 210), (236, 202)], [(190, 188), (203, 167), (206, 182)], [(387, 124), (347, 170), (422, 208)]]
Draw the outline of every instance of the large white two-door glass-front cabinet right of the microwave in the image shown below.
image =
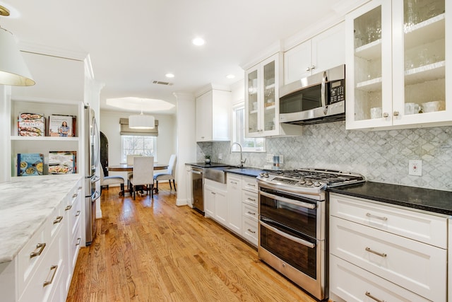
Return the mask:
[(446, 2), (375, 0), (347, 15), (347, 129), (452, 124)]

